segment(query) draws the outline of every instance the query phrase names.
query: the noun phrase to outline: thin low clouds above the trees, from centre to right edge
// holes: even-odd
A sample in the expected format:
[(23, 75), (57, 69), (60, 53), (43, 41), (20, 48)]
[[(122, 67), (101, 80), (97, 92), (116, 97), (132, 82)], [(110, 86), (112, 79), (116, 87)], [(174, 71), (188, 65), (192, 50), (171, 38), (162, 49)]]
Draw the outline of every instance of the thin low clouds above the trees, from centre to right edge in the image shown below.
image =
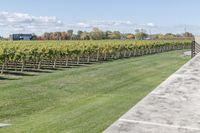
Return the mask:
[(70, 24), (68, 27), (72, 27), (73, 29), (78, 30), (91, 30), (93, 27), (98, 27), (102, 30), (119, 30), (124, 33), (134, 33), (135, 29), (145, 29), (148, 33), (156, 34), (156, 33), (184, 33), (185, 29), (188, 32), (193, 34), (200, 34), (200, 26), (199, 25), (156, 25), (153, 22), (147, 23), (137, 23), (130, 20), (91, 20), (91, 21), (80, 21), (75, 24)]

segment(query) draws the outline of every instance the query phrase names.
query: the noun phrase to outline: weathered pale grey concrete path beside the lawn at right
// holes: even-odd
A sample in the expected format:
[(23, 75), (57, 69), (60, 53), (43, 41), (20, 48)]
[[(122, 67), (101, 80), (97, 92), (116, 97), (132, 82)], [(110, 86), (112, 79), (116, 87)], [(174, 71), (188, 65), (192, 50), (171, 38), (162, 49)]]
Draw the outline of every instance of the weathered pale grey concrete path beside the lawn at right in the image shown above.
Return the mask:
[(200, 133), (200, 55), (171, 75), (104, 133)]

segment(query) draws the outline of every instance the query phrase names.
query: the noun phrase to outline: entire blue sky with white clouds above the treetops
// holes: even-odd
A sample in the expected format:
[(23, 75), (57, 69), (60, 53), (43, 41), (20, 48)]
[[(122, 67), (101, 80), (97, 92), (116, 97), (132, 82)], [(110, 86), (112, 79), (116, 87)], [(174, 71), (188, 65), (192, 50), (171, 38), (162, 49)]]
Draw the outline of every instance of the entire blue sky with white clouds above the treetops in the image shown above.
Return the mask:
[(68, 29), (200, 34), (200, 0), (1, 0), (0, 36)]

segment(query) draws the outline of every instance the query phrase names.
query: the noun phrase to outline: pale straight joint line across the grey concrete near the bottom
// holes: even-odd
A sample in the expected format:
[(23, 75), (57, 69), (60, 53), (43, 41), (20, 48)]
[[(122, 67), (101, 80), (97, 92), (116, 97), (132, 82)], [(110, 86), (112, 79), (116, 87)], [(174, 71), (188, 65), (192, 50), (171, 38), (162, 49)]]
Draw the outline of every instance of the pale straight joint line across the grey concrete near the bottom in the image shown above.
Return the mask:
[(186, 127), (186, 126), (179, 126), (179, 125), (160, 124), (160, 123), (147, 122), (147, 121), (128, 120), (128, 119), (119, 119), (119, 121), (129, 122), (129, 123), (141, 123), (141, 124), (155, 125), (155, 126), (161, 126), (161, 127), (171, 127), (171, 128), (177, 128), (177, 129), (187, 129), (187, 130), (200, 131), (200, 128), (193, 128), (193, 127)]

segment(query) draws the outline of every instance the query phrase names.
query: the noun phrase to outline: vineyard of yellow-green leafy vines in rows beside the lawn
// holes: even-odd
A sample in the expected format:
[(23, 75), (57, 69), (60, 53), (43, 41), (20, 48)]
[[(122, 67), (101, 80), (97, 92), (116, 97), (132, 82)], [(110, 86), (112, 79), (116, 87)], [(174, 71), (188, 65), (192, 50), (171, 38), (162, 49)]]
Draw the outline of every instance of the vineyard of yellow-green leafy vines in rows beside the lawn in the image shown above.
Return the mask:
[(188, 49), (190, 40), (1, 41), (0, 69), (31, 71)]

